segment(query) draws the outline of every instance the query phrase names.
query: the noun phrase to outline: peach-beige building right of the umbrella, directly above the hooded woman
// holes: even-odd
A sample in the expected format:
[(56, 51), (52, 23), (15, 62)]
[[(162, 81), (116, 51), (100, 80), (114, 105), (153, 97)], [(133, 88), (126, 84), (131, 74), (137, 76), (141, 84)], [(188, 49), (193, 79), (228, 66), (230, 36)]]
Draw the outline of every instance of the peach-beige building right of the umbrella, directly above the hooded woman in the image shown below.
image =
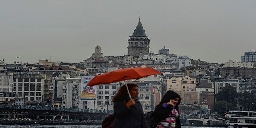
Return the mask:
[(184, 78), (171, 78), (167, 79), (166, 91), (196, 91), (196, 79), (192, 79), (189, 76)]

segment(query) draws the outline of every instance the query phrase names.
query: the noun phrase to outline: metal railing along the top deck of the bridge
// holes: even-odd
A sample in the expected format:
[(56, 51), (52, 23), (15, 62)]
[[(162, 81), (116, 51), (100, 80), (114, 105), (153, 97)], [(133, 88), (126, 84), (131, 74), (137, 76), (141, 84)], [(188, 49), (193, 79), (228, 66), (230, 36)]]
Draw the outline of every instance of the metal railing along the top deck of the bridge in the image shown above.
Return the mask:
[(50, 111), (64, 111), (64, 112), (86, 112), (86, 113), (106, 113), (113, 114), (113, 110), (101, 109), (78, 109), (78, 108), (63, 108), (51, 106), (16, 106), (16, 105), (0, 105), (0, 108), (5, 109), (24, 109), (24, 110), (50, 110)]

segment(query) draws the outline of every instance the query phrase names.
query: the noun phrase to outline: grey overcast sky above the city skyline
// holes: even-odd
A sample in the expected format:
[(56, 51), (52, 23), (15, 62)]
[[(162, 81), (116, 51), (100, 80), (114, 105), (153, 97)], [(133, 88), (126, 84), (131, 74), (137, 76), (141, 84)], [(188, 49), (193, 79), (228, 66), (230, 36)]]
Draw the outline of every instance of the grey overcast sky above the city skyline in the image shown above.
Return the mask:
[(1, 0), (0, 59), (79, 63), (98, 40), (123, 56), (139, 14), (154, 53), (223, 63), (256, 50), (255, 0)]

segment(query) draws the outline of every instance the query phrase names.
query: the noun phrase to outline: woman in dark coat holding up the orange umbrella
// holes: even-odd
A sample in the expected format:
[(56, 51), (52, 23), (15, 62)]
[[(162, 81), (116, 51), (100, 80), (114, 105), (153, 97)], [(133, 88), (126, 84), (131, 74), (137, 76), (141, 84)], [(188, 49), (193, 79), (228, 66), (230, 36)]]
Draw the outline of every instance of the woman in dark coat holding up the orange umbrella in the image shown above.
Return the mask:
[(127, 85), (132, 99), (129, 98), (125, 85), (122, 86), (113, 99), (116, 120), (112, 128), (149, 128), (138, 99), (138, 86), (135, 84)]

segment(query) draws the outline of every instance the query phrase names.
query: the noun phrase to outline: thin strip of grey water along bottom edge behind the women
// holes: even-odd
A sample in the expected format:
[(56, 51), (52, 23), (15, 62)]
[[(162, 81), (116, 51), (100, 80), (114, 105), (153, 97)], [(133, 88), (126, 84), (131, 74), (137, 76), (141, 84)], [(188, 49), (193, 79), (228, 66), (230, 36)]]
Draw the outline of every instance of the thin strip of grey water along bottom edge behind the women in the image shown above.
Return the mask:
[[(101, 125), (5, 125), (0, 128), (101, 128)], [(194, 127), (182, 126), (181, 128), (227, 128), (227, 127)]]

